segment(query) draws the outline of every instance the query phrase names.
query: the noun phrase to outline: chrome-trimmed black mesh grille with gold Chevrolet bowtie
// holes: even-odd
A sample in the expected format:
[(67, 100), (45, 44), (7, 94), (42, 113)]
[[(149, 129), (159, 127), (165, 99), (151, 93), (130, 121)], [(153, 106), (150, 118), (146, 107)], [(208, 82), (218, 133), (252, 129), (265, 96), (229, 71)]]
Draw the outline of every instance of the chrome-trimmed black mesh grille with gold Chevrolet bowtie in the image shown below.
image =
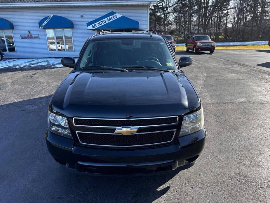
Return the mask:
[(136, 147), (172, 142), (178, 121), (178, 116), (126, 119), (77, 117), (73, 118), (73, 128), (81, 144)]

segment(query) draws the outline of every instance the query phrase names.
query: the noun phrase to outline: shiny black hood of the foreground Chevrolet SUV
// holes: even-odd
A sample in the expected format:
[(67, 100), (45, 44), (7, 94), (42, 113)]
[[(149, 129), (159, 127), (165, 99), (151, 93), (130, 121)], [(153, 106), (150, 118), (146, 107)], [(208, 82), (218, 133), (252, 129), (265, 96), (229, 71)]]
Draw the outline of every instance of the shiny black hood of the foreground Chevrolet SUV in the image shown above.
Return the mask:
[(126, 118), (182, 115), (199, 104), (181, 72), (75, 72), (58, 87), (51, 108), (69, 118)]

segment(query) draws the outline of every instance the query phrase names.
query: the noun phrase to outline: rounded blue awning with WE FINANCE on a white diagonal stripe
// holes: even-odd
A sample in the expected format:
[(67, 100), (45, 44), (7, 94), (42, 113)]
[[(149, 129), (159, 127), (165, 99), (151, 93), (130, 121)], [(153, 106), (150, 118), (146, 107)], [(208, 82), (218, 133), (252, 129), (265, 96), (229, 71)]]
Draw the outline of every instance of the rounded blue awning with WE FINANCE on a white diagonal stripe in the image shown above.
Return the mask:
[(39, 28), (73, 28), (73, 23), (62, 16), (47, 16), (39, 21)]

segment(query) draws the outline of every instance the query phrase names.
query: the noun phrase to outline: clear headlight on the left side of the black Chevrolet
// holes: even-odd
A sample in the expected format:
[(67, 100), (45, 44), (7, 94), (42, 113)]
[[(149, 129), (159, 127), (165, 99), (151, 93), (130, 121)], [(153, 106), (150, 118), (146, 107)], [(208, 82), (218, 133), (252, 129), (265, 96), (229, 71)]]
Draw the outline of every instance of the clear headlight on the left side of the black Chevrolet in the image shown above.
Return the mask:
[(67, 118), (63, 116), (59, 116), (55, 113), (48, 113), (48, 128), (52, 133), (55, 133), (57, 135), (61, 135), (64, 137), (68, 137), (72, 139)]

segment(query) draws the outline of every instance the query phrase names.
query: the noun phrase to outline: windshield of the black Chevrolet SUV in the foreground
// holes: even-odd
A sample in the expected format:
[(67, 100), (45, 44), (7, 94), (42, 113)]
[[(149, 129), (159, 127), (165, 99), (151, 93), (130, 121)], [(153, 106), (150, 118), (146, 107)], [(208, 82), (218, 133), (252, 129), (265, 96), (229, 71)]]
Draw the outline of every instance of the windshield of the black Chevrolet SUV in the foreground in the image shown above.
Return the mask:
[[(177, 70), (166, 42), (158, 39), (103, 39), (86, 47), (77, 70), (153, 67)], [(137, 66), (137, 67), (136, 67)], [(144, 67), (142, 67), (144, 66)]]

